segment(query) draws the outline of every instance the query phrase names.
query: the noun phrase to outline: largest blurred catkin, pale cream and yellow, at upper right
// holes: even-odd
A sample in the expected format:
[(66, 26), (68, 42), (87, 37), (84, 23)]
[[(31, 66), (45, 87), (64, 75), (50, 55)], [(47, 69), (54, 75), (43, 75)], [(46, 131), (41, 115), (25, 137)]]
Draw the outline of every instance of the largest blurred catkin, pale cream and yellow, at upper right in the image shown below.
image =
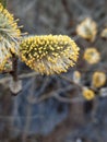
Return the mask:
[(91, 17), (86, 17), (76, 26), (76, 33), (79, 36), (94, 42), (97, 34), (97, 25)]

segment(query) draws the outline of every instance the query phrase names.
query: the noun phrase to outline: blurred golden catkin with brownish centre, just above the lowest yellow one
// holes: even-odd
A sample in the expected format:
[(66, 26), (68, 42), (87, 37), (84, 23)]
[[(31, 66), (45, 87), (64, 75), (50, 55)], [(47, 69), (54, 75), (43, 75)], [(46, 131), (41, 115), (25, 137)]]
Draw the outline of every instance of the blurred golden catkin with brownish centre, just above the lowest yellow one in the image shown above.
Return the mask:
[(102, 87), (106, 83), (106, 74), (100, 71), (94, 72), (92, 76), (92, 85), (94, 87)]

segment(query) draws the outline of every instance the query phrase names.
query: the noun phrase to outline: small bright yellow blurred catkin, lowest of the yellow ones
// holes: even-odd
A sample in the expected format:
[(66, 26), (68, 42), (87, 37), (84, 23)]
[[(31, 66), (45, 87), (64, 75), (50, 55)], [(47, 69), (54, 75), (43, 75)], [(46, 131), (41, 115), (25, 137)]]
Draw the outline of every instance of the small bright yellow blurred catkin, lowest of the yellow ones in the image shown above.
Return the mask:
[(86, 100), (92, 100), (95, 97), (95, 93), (90, 88), (83, 88), (82, 94)]

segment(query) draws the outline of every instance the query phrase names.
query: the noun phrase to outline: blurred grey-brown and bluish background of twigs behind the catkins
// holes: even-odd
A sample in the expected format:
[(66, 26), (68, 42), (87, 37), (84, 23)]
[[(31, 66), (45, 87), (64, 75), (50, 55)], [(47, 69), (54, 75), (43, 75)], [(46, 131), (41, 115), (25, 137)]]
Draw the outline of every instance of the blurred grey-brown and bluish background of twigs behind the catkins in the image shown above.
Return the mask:
[[(81, 51), (78, 64), (61, 76), (36, 74), (19, 61), (23, 90), (16, 96), (9, 91), (9, 75), (1, 74), (0, 142), (107, 142), (107, 88), (105, 97), (96, 93), (86, 100), (70, 82), (74, 70), (81, 72), (84, 86), (91, 85), (94, 71), (107, 71), (107, 42), (99, 37), (107, 26), (107, 0), (8, 0), (8, 10), (20, 19), (23, 33), (69, 35)], [(75, 32), (85, 17), (97, 24), (93, 43)], [(88, 47), (100, 52), (97, 64), (82, 59)]]

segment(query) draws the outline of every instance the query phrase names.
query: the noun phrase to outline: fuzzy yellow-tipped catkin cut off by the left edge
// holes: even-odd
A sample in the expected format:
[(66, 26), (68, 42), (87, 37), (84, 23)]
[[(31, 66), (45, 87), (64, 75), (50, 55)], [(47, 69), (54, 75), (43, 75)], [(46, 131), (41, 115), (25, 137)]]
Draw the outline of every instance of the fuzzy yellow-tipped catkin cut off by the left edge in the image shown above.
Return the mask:
[(17, 52), (17, 40), (21, 32), (13, 15), (0, 3), (0, 72), (4, 70), (5, 62), (11, 52)]

